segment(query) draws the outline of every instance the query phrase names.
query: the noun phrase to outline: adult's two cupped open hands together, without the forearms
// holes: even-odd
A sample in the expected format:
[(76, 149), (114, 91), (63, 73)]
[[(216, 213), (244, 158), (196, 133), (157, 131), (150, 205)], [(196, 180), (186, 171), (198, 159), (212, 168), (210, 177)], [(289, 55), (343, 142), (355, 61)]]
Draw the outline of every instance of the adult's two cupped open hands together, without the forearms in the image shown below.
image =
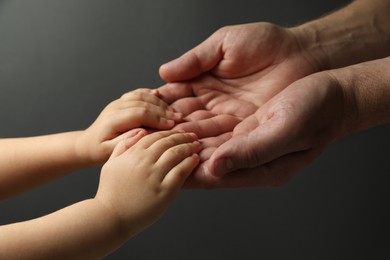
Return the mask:
[(202, 138), (187, 187), (280, 186), (338, 137), (346, 95), (315, 74), (322, 54), (306, 39), (269, 23), (225, 27), (160, 68), (162, 99), (187, 121), (174, 129)]

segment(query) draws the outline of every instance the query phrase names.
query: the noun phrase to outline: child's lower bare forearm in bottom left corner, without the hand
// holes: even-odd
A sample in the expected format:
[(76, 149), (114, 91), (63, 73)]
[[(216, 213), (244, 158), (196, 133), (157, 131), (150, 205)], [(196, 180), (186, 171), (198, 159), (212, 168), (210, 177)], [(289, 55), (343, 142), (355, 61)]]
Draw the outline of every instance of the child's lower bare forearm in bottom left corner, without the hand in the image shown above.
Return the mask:
[(101, 259), (132, 235), (109, 208), (90, 199), (0, 226), (0, 259)]

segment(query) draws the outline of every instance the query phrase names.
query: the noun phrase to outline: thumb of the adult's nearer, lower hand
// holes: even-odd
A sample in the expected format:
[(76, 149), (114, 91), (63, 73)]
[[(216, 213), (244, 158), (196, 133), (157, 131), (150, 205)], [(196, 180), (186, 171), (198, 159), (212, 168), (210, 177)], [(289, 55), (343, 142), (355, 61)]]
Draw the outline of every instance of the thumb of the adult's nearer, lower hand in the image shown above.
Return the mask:
[(291, 117), (269, 119), (248, 134), (233, 136), (213, 153), (207, 170), (215, 176), (242, 168), (254, 168), (285, 154), (307, 150), (292, 134), (296, 128)]

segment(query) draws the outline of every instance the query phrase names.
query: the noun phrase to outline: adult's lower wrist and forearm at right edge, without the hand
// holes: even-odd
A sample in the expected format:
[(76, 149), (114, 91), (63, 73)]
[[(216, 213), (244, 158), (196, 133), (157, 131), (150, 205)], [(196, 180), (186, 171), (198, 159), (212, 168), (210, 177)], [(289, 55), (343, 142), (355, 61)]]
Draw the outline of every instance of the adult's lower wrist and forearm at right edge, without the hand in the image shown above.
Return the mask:
[(390, 123), (390, 57), (331, 70), (345, 96), (342, 135)]

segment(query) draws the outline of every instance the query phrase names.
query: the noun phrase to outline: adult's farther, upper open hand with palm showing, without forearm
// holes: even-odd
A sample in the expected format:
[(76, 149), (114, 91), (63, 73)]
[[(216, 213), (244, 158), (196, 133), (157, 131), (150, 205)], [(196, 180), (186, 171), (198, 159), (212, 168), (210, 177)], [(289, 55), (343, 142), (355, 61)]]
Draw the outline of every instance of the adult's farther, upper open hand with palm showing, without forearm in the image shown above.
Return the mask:
[(188, 121), (178, 128), (210, 137), (203, 139), (203, 161), (241, 120), (290, 83), (320, 70), (302, 39), (297, 29), (269, 23), (225, 27), (160, 68), (163, 79), (175, 81), (160, 88), (162, 98)]

